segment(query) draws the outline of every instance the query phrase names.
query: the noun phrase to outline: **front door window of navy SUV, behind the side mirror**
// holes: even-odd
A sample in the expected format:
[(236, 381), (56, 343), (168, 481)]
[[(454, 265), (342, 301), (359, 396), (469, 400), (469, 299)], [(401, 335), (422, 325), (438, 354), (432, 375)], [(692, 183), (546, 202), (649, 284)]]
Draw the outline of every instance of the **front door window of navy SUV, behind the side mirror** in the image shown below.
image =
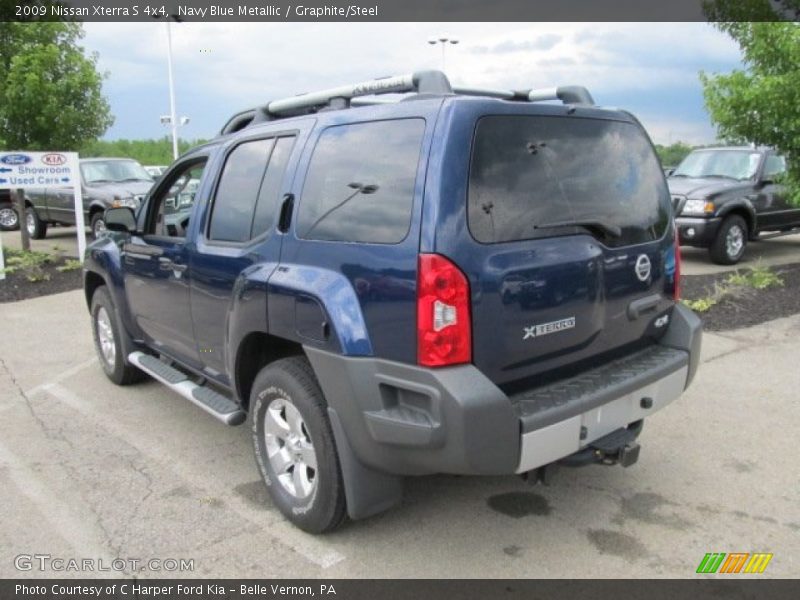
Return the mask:
[(148, 227), (148, 233), (163, 237), (186, 237), (205, 166), (205, 159), (194, 161), (170, 175), (166, 192), (154, 198), (155, 218)]

